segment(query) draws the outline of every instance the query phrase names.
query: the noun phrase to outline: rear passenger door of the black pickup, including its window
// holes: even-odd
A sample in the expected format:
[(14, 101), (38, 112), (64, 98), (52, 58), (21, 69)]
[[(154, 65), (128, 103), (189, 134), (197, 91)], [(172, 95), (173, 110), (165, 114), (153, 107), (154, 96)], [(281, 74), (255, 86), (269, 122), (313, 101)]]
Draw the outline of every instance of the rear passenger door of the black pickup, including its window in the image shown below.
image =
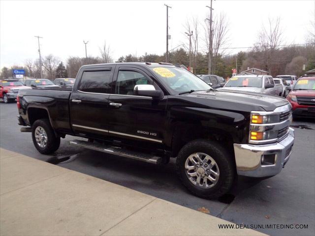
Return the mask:
[(115, 66), (84, 69), (70, 97), (72, 130), (79, 136), (108, 134), (109, 93)]

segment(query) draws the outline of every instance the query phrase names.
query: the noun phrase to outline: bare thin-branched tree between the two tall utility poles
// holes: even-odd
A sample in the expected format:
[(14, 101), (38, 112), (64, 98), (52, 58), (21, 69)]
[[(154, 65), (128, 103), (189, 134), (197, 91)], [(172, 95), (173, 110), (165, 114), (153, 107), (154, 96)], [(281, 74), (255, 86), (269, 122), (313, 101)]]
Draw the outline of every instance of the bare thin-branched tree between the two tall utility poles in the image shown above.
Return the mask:
[[(199, 47), (199, 21), (198, 17), (192, 17), (187, 19), (186, 25), (184, 26), (186, 32), (192, 32), (191, 35), (191, 56), (192, 56), (192, 67), (196, 68), (196, 57), (198, 55)], [(184, 44), (185, 49), (189, 52), (189, 36), (185, 33), (187, 43)]]

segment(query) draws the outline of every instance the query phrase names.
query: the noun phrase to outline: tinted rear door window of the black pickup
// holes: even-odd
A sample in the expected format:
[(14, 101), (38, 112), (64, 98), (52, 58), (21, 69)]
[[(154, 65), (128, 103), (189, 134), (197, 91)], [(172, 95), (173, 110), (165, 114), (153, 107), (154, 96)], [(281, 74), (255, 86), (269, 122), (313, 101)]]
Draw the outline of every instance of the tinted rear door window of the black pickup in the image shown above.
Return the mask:
[(110, 70), (84, 71), (79, 90), (84, 92), (110, 93), (111, 75)]

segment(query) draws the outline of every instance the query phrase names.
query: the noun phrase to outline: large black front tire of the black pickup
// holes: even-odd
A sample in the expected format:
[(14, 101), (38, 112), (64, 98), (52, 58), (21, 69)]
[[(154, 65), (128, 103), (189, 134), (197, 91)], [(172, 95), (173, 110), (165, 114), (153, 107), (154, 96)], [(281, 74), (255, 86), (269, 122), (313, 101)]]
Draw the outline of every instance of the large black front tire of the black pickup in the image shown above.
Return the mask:
[[(188, 177), (186, 166), (192, 165), (195, 167), (195, 165), (189, 159), (189, 158), (194, 158), (194, 157), (191, 157), (193, 156), (194, 153), (207, 154), (208, 156), (210, 156), (210, 158), (212, 158), (211, 164), (213, 163), (217, 164), (216, 166), (212, 167), (212, 170), (215, 171), (216, 174), (219, 174), (218, 179), (216, 180), (216, 183), (213, 183), (209, 179), (207, 179), (206, 185), (209, 185), (209, 186), (201, 187), (197, 183), (197, 181), (194, 181), (192, 179), (192, 178), (196, 178), (197, 180), (196, 176), (192, 178)], [(204, 158), (203, 161), (206, 160), (206, 156), (202, 157), (202, 155), (200, 154), (199, 156), (201, 157), (201, 159)], [(209, 162), (207, 163), (208, 165), (210, 164)], [(197, 169), (191, 170), (191, 172), (195, 172), (195, 174), (196, 175), (198, 174), (199, 176), (201, 176), (204, 173), (210, 173), (208, 177), (215, 177), (212, 175), (211, 172), (209, 172), (209, 169), (206, 168), (206, 164), (205, 162), (203, 163), (203, 168), (205, 169), (202, 170), (200, 169), (201, 166), (199, 162), (198, 164), (199, 167)], [(189, 166), (189, 167), (192, 168), (192, 166)], [(219, 143), (214, 142), (214, 141), (208, 141), (208, 140), (195, 140), (186, 144), (179, 151), (178, 156), (176, 158), (176, 171), (179, 178), (181, 179), (183, 184), (188, 188), (190, 192), (192, 192), (194, 195), (198, 197), (206, 198), (206, 199), (216, 199), (222, 196), (223, 194), (227, 193), (232, 187), (234, 183), (234, 179), (236, 177), (235, 163), (231, 155)], [(205, 177), (205, 178), (208, 178), (208, 177)]]

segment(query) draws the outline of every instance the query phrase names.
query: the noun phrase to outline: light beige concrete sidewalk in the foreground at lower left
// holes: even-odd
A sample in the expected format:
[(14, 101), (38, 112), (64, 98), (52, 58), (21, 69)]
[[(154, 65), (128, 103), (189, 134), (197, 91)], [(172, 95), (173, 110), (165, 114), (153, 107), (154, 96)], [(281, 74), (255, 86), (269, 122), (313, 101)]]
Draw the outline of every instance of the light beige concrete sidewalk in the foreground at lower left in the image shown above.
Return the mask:
[(0, 148), (0, 235), (263, 235)]

